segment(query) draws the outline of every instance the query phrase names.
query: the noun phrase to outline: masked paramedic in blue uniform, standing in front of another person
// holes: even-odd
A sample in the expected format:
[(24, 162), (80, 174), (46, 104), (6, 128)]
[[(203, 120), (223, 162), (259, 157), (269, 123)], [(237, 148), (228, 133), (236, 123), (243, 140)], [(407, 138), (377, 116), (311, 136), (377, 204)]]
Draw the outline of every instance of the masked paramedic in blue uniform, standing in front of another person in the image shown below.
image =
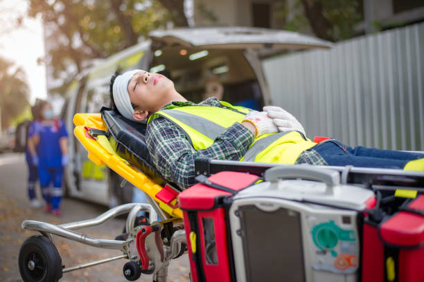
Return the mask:
[(38, 166), (39, 184), (46, 201), (46, 212), (59, 216), (63, 194), (63, 167), (69, 161), (68, 133), (64, 122), (54, 118), (51, 104), (44, 102), (40, 109), (42, 120), (35, 123), (34, 133), (30, 138), (31, 159), (33, 164)]

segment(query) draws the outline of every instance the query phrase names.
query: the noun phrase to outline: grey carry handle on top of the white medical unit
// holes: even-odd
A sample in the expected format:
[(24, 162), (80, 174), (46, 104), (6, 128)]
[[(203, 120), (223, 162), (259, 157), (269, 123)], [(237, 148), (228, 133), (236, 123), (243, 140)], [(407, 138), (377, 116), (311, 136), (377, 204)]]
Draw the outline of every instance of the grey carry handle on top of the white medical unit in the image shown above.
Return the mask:
[(284, 178), (301, 178), (324, 182), (327, 185), (327, 190), (333, 190), (334, 186), (340, 184), (340, 175), (337, 171), (309, 165), (272, 167), (265, 171), (265, 181), (275, 182), (276, 180)]

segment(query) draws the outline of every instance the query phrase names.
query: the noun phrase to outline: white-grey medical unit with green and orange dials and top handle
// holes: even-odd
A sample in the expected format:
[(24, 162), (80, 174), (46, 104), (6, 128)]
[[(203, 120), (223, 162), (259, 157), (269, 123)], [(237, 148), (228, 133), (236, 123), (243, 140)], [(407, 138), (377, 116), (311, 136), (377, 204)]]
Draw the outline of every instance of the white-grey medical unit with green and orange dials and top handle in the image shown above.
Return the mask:
[(237, 281), (357, 281), (358, 214), (374, 199), (336, 171), (269, 169), (229, 209)]

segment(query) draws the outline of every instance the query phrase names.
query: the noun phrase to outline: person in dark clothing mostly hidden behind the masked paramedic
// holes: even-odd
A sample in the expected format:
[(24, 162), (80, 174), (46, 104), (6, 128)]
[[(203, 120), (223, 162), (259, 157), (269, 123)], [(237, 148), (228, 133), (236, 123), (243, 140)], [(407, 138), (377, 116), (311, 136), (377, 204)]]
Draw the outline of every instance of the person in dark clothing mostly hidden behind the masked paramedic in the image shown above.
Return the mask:
[(37, 122), (37, 109), (36, 106), (33, 106), (33, 109), (31, 109), (33, 112), (33, 118), (34, 120), (30, 122), (28, 125), (28, 134), (26, 138), (26, 150), (25, 150), (25, 160), (26, 164), (28, 166), (28, 198), (30, 200), (31, 207), (41, 207), (42, 203), (37, 200), (37, 194), (35, 193), (35, 185), (37, 184), (38, 180), (38, 169), (35, 164), (33, 164), (33, 160), (31, 158), (31, 154), (28, 148), (28, 140), (33, 137), (34, 135), (34, 126)]

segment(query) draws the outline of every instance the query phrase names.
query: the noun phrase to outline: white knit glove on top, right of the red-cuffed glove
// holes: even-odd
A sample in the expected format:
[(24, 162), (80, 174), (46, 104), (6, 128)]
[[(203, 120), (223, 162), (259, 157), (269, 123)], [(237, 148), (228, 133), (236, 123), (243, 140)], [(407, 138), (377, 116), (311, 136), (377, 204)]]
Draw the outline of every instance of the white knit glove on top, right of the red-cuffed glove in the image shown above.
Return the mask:
[(288, 111), (281, 109), (279, 106), (264, 106), (263, 111), (267, 113), (268, 117), (272, 118), (280, 132), (300, 131), (306, 136), (302, 124)]

